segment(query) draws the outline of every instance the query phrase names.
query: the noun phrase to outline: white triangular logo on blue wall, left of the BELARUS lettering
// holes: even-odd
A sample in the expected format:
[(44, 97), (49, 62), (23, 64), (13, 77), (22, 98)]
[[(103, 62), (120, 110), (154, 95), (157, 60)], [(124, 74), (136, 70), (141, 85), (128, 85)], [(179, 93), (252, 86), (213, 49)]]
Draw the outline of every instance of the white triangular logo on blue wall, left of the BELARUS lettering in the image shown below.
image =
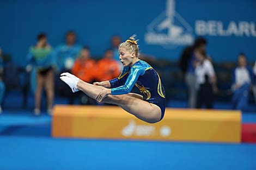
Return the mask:
[(175, 11), (175, 1), (167, 0), (166, 7), (166, 11), (157, 16), (147, 27), (148, 33), (145, 34), (145, 42), (165, 48), (193, 43), (193, 29)]

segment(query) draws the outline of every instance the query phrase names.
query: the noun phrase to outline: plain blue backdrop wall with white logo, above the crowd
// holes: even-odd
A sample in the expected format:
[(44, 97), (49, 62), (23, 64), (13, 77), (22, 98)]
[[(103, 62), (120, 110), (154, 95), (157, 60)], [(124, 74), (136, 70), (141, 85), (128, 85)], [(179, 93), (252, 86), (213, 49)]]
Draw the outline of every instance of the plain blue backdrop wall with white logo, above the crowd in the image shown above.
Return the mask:
[(197, 36), (209, 41), (215, 61), (236, 61), (240, 52), (256, 59), (254, 0), (0, 1), (0, 46), (25, 65), (39, 32), (55, 47), (75, 30), (77, 42), (102, 55), (111, 36), (137, 34), (142, 53), (177, 60)]

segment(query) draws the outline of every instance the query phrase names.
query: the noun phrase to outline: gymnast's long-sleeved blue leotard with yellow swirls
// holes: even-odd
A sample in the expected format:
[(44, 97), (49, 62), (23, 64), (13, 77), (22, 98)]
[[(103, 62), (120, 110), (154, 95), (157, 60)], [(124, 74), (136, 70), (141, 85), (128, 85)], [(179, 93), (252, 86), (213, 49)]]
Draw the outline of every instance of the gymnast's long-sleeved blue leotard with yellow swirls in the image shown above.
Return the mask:
[(124, 95), (131, 92), (133, 86), (138, 87), (143, 100), (160, 107), (163, 118), (166, 109), (165, 91), (159, 74), (147, 62), (138, 60), (131, 67), (124, 67), (119, 77), (109, 82), (111, 95)]

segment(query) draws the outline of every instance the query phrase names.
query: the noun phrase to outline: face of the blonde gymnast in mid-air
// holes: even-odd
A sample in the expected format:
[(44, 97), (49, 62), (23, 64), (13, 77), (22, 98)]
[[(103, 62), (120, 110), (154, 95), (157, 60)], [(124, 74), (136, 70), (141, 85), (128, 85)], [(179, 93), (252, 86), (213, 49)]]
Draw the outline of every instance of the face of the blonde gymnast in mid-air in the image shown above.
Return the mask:
[(119, 59), (121, 63), (126, 66), (132, 66), (133, 62), (136, 60), (135, 53), (130, 53), (124, 47), (120, 47), (119, 50)]

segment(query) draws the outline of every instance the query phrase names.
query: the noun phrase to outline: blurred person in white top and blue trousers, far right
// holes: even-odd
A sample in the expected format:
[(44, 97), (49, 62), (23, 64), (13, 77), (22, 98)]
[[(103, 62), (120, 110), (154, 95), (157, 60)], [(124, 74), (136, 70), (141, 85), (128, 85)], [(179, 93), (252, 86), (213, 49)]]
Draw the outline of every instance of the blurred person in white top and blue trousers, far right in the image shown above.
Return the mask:
[(241, 53), (238, 57), (238, 66), (232, 74), (233, 109), (247, 110), (248, 95), (253, 83), (252, 68), (247, 65), (245, 54)]

